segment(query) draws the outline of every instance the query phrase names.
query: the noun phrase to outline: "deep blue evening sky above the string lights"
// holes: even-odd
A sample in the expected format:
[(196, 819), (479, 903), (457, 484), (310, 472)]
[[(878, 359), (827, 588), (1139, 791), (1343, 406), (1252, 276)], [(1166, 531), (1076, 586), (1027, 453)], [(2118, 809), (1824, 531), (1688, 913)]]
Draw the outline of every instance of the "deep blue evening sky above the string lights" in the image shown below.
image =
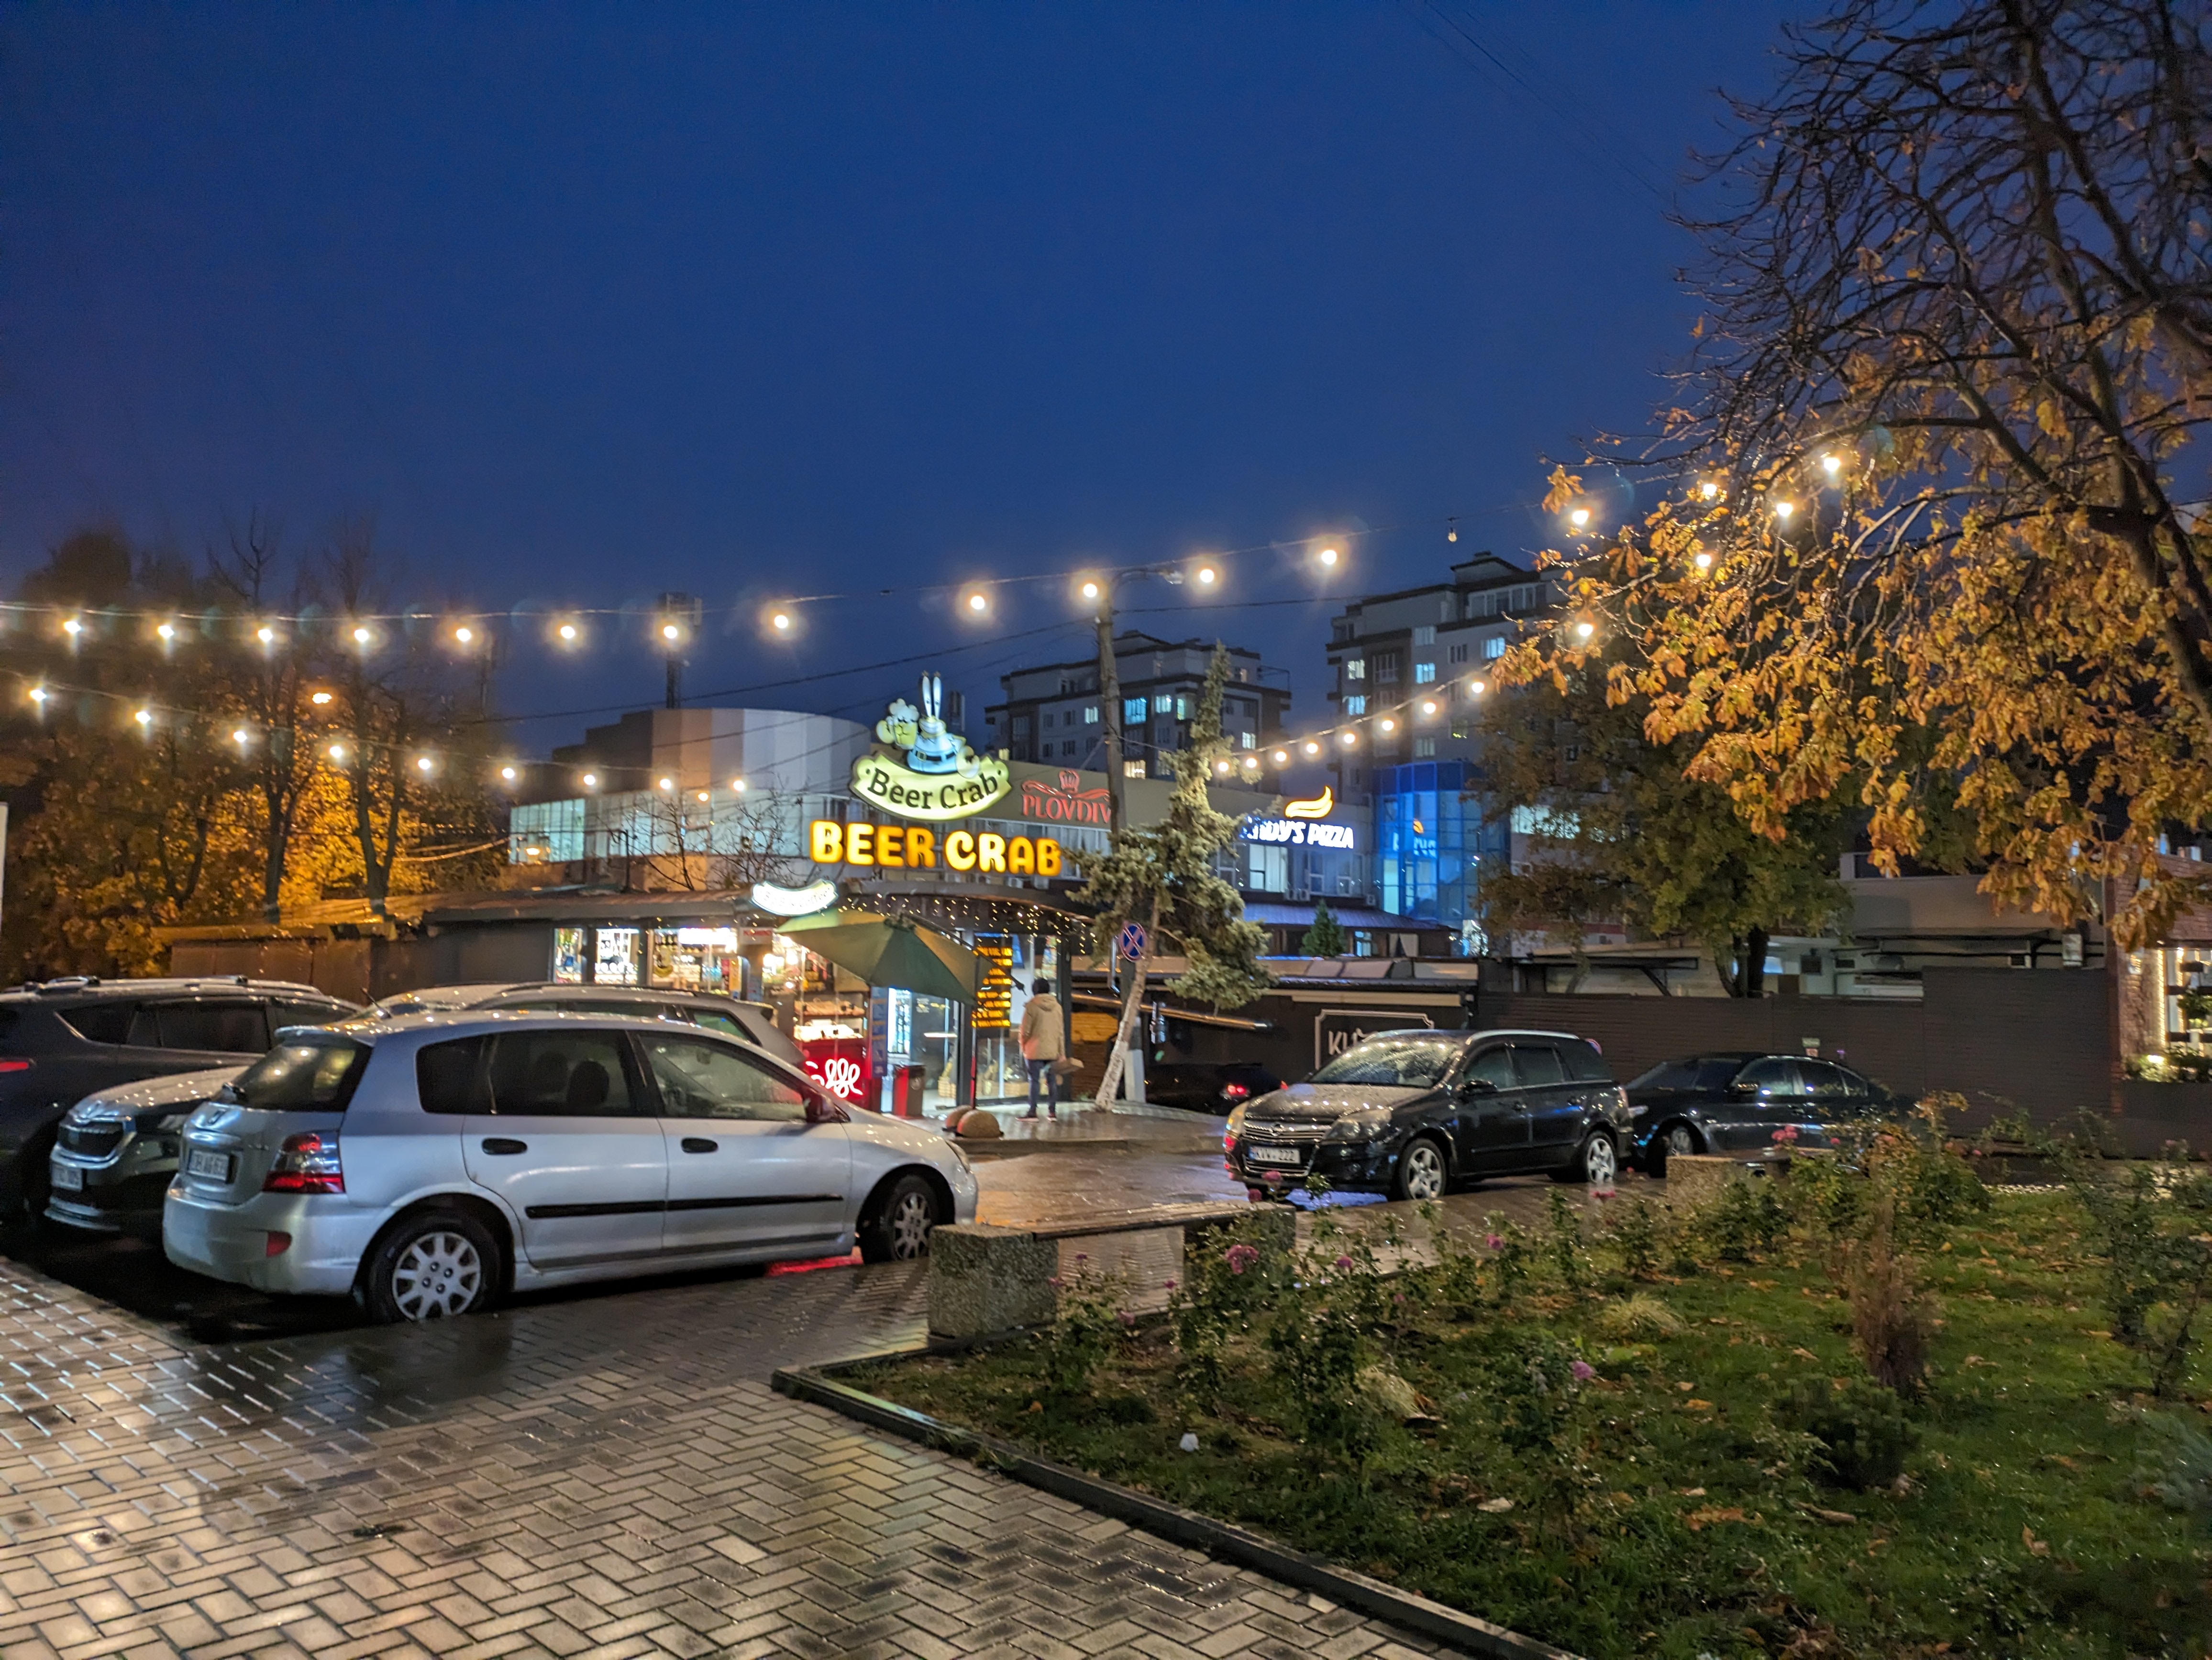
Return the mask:
[[(1639, 175), (1765, 84), (1781, 9), (1440, 4), (11, 7), (0, 570), (257, 508), (374, 515), (411, 592), (487, 608), (1542, 546), (1542, 458), (1639, 424), (1690, 323)], [(1265, 650), (1318, 721), (1327, 612), (1133, 621)], [(995, 626), (1066, 614), (1033, 584)], [(973, 637), (940, 595), (807, 617), (717, 623), (690, 685)], [(518, 643), (507, 707), (657, 701), (641, 632)], [(942, 670), (980, 703), (1071, 648)]]

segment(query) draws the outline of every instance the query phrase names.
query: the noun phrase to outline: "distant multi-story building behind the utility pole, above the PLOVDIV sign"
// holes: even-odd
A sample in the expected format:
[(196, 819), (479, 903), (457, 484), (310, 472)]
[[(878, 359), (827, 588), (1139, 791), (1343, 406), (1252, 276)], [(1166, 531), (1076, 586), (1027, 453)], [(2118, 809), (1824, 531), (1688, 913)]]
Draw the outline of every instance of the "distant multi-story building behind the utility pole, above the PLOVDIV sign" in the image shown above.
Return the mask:
[[(1214, 648), (1199, 639), (1164, 641), (1135, 630), (1115, 634), (1121, 681), (1121, 769), (1130, 778), (1166, 778), (1168, 756), (1190, 743), (1190, 721), (1206, 687)], [(1035, 760), (1102, 771), (1106, 725), (1099, 718), (1097, 656), (1002, 674), (1004, 701), (984, 710), (987, 747), (1009, 760)], [(1230, 687), (1221, 698), (1221, 732), (1234, 749), (1281, 743), (1290, 718), (1290, 674), (1265, 668), (1259, 652), (1230, 648)]]

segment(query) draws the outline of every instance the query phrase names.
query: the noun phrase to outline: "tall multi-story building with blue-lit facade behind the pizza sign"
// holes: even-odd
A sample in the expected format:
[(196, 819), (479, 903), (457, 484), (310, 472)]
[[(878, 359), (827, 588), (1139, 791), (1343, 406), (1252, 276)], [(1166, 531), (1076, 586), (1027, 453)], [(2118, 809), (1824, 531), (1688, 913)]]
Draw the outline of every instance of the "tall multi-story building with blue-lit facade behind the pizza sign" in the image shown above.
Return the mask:
[(1475, 703), (1486, 672), (1553, 612), (1553, 579), (1493, 553), (1451, 566), (1451, 581), (1345, 606), (1329, 634), (1329, 701), (1356, 745), (1329, 756), (1338, 798), (1363, 813), (1371, 897), (1400, 917), (1478, 944), (1484, 860), (1506, 860), (1511, 824), (1486, 822), (1467, 787)]

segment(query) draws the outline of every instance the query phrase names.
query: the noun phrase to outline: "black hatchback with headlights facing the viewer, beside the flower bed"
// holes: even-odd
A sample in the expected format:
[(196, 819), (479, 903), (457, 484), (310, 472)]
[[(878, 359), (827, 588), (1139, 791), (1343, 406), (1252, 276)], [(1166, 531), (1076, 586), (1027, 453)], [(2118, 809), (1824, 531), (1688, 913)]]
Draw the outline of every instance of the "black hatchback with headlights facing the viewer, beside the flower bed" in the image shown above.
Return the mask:
[(1252, 1198), (1329, 1187), (1438, 1198), (1453, 1183), (1546, 1172), (1610, 1185), (1628, 1099), (1573, 1032), (1376, 1032), (1305, 1083), (1230, 1112), (1230, 1174)]

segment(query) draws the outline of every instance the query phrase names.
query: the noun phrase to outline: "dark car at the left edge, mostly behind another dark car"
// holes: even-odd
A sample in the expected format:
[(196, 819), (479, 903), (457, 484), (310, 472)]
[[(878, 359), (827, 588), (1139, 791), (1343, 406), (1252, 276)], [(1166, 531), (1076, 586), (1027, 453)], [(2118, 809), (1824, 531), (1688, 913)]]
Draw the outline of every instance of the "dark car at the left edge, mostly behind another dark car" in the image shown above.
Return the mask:
[(0, 992), (0, 1222), (49, 1209), (49, 1154), (71, 1103), (177, 1072), (241, 1065), (281, 1026), (352, 1004), (285, 979), (49, 979)]

